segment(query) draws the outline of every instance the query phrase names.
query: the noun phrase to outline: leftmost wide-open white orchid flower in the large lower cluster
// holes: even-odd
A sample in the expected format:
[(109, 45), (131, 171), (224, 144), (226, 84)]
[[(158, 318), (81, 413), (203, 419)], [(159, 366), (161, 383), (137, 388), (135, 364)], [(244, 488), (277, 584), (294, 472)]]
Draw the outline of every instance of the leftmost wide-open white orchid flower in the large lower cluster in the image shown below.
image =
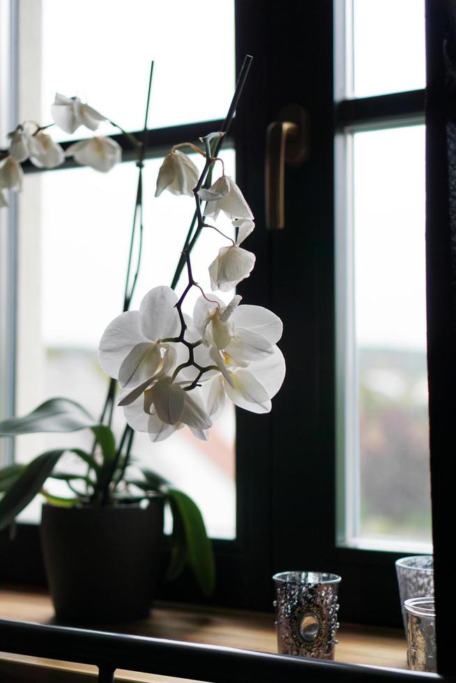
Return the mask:
[(161, 341), (178, 332), (176, 302), (172, 289), (155, 287), (144, 296), (139, 311), (121, 313), (103, 332), (98, 349), (102, 369), (123, 388), (140, 387), (138, 396), (177, 362), (178, 347), (183, 345)]

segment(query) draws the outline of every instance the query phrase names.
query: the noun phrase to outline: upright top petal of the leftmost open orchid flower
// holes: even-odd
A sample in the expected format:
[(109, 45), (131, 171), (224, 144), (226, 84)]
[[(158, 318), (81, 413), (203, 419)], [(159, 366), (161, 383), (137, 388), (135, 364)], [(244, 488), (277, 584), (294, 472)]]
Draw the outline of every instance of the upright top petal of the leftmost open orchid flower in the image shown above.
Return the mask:
[(170, 287), (154, 287), (144, 296), (139, 306), (143, 334), (152, 341), (175, 337), (179, 316), (175, 308), (177, 295)]

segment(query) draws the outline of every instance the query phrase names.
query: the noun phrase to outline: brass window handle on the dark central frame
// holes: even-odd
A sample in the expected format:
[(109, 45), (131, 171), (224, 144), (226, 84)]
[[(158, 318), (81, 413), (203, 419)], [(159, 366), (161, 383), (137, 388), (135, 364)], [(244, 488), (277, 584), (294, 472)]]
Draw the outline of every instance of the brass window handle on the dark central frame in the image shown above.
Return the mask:
[(301, 166), (308, 158), (307, 112), (301, 105), (288, 105), (266, 130), (265, 201), (266, 228), (285, 227), (285, 162)]

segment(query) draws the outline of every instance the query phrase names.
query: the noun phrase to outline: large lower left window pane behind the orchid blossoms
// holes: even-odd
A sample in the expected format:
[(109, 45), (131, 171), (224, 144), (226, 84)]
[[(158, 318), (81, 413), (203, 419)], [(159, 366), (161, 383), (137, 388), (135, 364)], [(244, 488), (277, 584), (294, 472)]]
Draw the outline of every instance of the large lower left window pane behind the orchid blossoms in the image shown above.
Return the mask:
[[(231, 176), (234, 156), (232, 150), (222, 152)], [(198, 157), (193, 155), (200, 165)], [(153, 198), (161, 162), (148, 160), (144, 167), (143, 261), (132, 309), (153, 286), (171, 284), (195, 207), (192, 198), (168, 192)], [(100, 413), (107, 377), (98, 365), (97, 348), (105, 327), (121, 312), (136, 182), (133, 163), (119, 164), (109, 175), (86, 168), (26, 175), (20, 195), (18, 413), (55, 396)], [(220, 217), (218, 227), (232, 234), (229, 220), (223, 224)], [(205, 230), (195, 247), (193, 275), (205, 291), (210, 291), (207, 266), (221, 244), (225, 240), (218, 233)], [(192, 292), (184, 310), (191, 313), (198, 296), (199, 291)], [(119, 433), (123, 411), (115, 408), (114, 413)], [(213, 537), (236, 535), (234, 429), (230, 406), (207, 442), (187, 428), (157, 444), (137, 433), (132, 451), (195, 499)], [(17, 456), (28, 461), (53, 447), (90, 443), (85, 432), (22, 436)], [(74, 467), (71, 456), (68, 460)], [(36, 519), (38, 508), (36, 502), (26, 511), (28, 519)]]

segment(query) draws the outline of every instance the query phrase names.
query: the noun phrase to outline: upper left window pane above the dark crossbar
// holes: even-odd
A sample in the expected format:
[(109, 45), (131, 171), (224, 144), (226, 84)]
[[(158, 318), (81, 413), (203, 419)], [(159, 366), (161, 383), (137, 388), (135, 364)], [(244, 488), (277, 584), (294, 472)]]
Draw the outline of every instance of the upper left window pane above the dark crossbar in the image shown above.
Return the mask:
[[(233, 0), (33, 3), (21, 3), (21, 43), (27, 53), (22, 118), (50, 122), (57, 91), (79, 95), (126, 130), (139, 130), (151, 60), (149, 128), (225, 118), (234, 91)], [(207, 26), (209, 36), (203, 33)], [(208, 53), (208, 40), (217, 45), (216, 52)], [(111, 132), (107, 125), (105, 130)], [(73, 136), (61, 130), (52, 135), (68, 139), (89, 132), (81, 128)]]

